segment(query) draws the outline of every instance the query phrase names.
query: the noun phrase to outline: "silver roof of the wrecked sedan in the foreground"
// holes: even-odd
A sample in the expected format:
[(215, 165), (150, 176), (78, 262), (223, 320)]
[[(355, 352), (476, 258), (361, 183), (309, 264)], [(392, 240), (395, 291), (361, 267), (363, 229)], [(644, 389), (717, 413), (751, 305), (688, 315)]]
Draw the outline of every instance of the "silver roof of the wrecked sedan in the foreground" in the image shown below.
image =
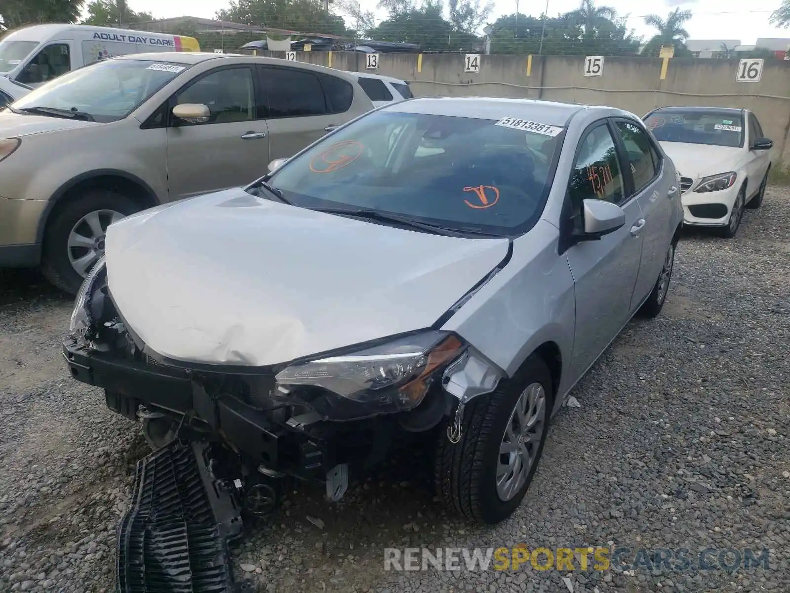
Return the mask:
[(570, 103), (533, 99), (504, 99), (490, 96), (432, 96), (400, 101), (382, 108), (382, 111), (401, 113), (426, 113), (430, 115), (453, 115), (479, 119), (502, 119), (513, 117), (529, 119), (551, 126), (566, 126), (579, 111), (600, 111), (601, 117), (623, 115), (634, 117), (627, 111), (609, 107), (592, 107)]

